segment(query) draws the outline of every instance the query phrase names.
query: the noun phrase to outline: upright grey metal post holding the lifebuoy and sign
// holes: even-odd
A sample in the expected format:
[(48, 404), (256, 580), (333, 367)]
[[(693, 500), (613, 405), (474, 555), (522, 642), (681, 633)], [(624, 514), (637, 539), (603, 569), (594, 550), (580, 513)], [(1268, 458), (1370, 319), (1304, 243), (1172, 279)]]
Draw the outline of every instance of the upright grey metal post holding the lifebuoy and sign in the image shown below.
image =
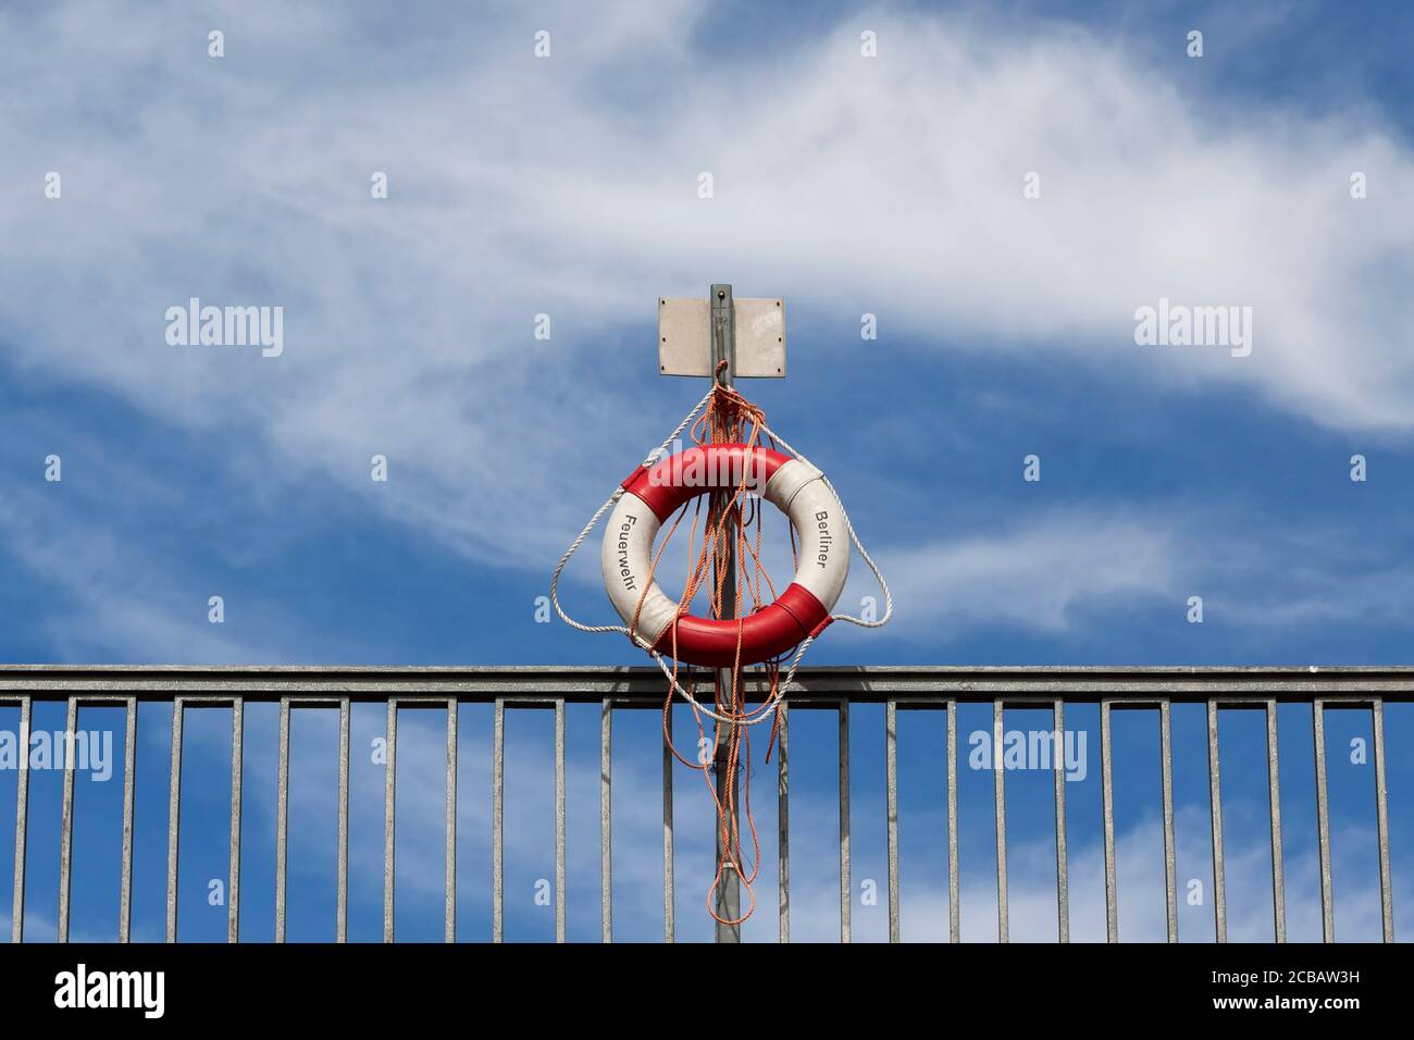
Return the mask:
[[(731, 301), (731, 286), (730, 284), (714, 284), (711, 287), (710, 297), (711, 308), (711, 366), (714, 378), (723, 386), (731, 386), (732, 375), (737, 369), (737, 330), (732, 323), (732, 301)], [(725, 361), (727, 368), (717, 372), (718, 365)], [(721, 512), (728, 508), (731, 502), (730, 491), (718, 491), (713, 494), (713, 508), (710, 512), (711, 522), (715, 522), (721, 516)], [(721, 610), (717, 613), (718, 620), (730, 620), (737, 616), (737, 531), (731, 519), (727, 521), (724, 528), (724, 536), (727, 538), (727, 552), (724, 556), (718, 555), (714, 560), (713, 580), (723, 589)], [(721, 686), (725, 696), (731, 696), (731, 691), (740, 682), (740, 672), (734, 674), (731, 668), (721, 668), (717, 672), (717, 682)], [(745, 691), (742, 691), (745, 696)], [(737, 726), (732, 724), (724, 727), (721, 723), (715, 726), (715, 754), (713, 767), (717, 773), (717, 801), (725, 807), (727, 804), (727, 770), (730, 768), (730, 749), (732, 741), (738, 737)], [(728, 836), (735, 831), (737, 824), (737, 795), (732, 801), (732, 819), (727, 821)], [(715, 822), (714, 822), (715, 826)], [(727, 853), (727, 843), (723, 839), (721, 829), (717, 828), (717, 859)], [(723, 879), (721, 884), (717, 886), (717, 915), (727, 920), (734, 920), (741, 917), (741, 879), (737, 872), (728, 870)], [(721, 924), (717, 923), (717, 941), (718, 942), (741, 942), (741, 925), (740, 924)]]

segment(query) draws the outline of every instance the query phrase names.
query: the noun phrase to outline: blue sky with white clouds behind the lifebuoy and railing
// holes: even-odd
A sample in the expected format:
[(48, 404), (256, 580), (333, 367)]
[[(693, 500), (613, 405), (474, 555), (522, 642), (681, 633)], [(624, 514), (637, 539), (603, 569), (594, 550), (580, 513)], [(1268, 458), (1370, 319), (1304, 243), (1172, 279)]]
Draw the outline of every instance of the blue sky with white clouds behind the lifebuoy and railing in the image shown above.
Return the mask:
[[(1195, 28), (1202, 58), (1185, 54)], [(225, 33), (219, 59), (208, 57), (212, 30)], [(551, 34), (549, 59), (532, 54), (537, 30)], [(877, 34), (878, 57), (861, 57), (863, 31)], [(744, 389), (830, 474), (896, 594), (889, 628), (836, 627), (813, 662), (1407, 664), (1411, 34), (1403, 4), (0, 7), (0, 658), (638, 662), (624, 641), (537, 624), (536, 597), (583, 519), (701, 392), (655, 375), (653, 300), (730, 280), (742, 296), (788, 299), (790, 378)], [(61, 198), (45, 197), (51, 171)], [(376, 171), (386, 200), (370, 197)], [(697, 195), (701, 171), (714, 177), (711, 200)], [(1366, 198), (1350, 197), (1356, 171)], [(1022, 194), (1028, 173), (1039, 198)], [(283, 307), (284, 352), (168, 345), (165, 308), (194, 296)], [(1135, 345), (1135, 308), (1161, 297), (1251, 307), (1250, 357)], [(533, 337), (540, 313), (550, 340)], [(860, 338), (863, 314), (877, 317), (877, 340)], [(51, 454), (61, 483), (44, 480)], [(386, 483), (369, 478), (373, 454), (389, 460)], [(1039, 483), (1022, 480), (1028, 454), (1041, 458)], [(1353, 454), (1367, 460), (1366, 481), (1350, 480)], [(577, 563), (571, 611), (611, 620), (592, 553)], [(850, 608), (872, 591), (854, 570)], [(211, 596), (225, 600), (221, 625), (208, 623)], [(1202, 624), (1186, 620), (1192, 596)], [(168, 723), (154, 710), (140, 722), (139, 775), (156, 785), (140, 782), (151, 801), (139, 829), (140, 870), (157, 873), (143, 874), (134, 911), (148, 925), (160, 923), (165, 835)], [(464, 763), (488, 740), (485, 719), (467, 712)], [(259, 716), (253, 707), (253, 835), (273, 811), (273, 773), (256, 765), (273, 761), (273, 743), (262, 744), (273, 730), (262, 736)], [(590, 915), (571, 925), (592, 937), (597, 720), (574, 719), (571, 775), (587, 787), (571, 788), (581, 812), (568, 894)], [(882, 879), (871, 719), (857, 712), (855, 879)], [(1234, 761), (1256, 770), (1225, 774), (1225, 808), (1260, 821), (1253, 719), (1223, 717)], [(400, 899), (407, 934), (431, 937), (440, 753), (424, 723), (403, 740), (430, 741), (430, 757), (406, 756), (414, 774), (399, 780), (417, 791), (416, 771), (428, 771), (431, 824), (413, 831), (406, 856), (436, 872), (407, 872)], [(618, 747), (628, 777), (639, 770), (656, 785), (649, 723), (624, 720)], [(300, 724), (307, 826), (291, 886), (310, 896), (291, 937), (317, 937), (332, 934), (317, 893), (332, 877), (332, 832), (320, 828), (332, 811), (321, 761), (334, 730), (314, 712)], [(822, 734), (817, 747), (793, 741), (807, 778), (793, 819), (800, 848), (814, 833), (822, 852), (797, 856), (817, 865), (797, 883), (819, 897), (800, 897), (796, 927), (827, 935), (833, 744), (824, 715), (800, 724)], [(516, 761), (530, 763), (512, 777), (527, 819), (547, 819), (532, 811), (549, 798), (547, 726), (518, 716), (512, 734)], [(929, 787), (940, 726), (909, 717), (901, 768), (905, 782), (916, 775), (904, 805), (905, 906), (912, 869), (918, 913), (946, 927), (940, 846), (911, 836), (940, 833), (942, 788)], [(1134, 726), (1127, 747), (1157, 746), (1152, 717)], [(1199, 821), (1198, 876), (1206, 788), (1193, 726), (1192, 744), (1179, 744), (1198, 770), (1181, 788), (1181, 829), (1185, 812)], [(1367, 716), (1349, 726), (1332, 741), (1343, 747)], [(1390, 707), (1387, 726), (1391, 747), (1414, 736), (1406, 706)], [(222, 724), (208, 727), (194, 723), (194, 747), (219, 763)], [(1308, 734), (1309, 712), (1284, 709), (1282, 727), (1284, 741)], [(1291, 761), (1309, 758), (1305, 739)], [(1150, 763), (1135, 751), (1121, 764), (1133, 770), (1120, 774), (1134, 780), (1126, 791), (1144, 790)], [(221, 770), (192, 768), (219, 808)], [(1292, 768), (1287, 870), (1309, 894), (1309, 782)], [(1332, 768), (1349, 857), (1342, 934), (1373, 935), (1369, 767)], [(683, 795), (691, 781), (679, 781)], [(13, 805), (7, 782), (0, 774), (0, 805)], [(1031, 812), (1036, 831), (1012, 849), (1012, 883), (1027, 893), (1014, 893), (1014, 932), (1041, 935), (1046, 911), (1018, 925), (1017, 907), (1045, 899), (1049, 777), (1015, 782), (1041, 787), (1008, 802), (1015, 825)], [(380, 774), (356, 784), (376, 850)], [(462, 784), (469, 891), (485, 859), (485, 782), (465, 764)], [(991, 777), (964, 770), (960, 784), (976, 785), (963, 791), (974, 826), (964, 899), (980, 907), (964, 934), (986, 938)], [(1094, 768), (1072, 788), (1097, 784)], [(116, 915), (102, 880), (116, 877), (103, 836), (115, 787), (95, 784), (81, 818), (95, 921)], [(1414, 835), (1400, 807), (1414, 774), (1397, 756), (1390, 788), (1408, 903)], [(656, 808), (624, 798), (621, 848), (639, 840), (646, 853), (622, 852), (615, 869), (646, 880), (625, 882), (636, 908), (622, 927), (652, 937)], [(1092, 808), (1075, 795), (1077, 899), (1093, 866)], [(1128, 816), (1120, 808), (1134, 849), (1126, 876), (1151, 880), (1152, 814), (1138, 801)], [(689, 894), (707, 852), (686, 839), (708, 832), (701, 809), (682, 798), (686, 937), (706, 934)], [(1258, 856), (1260, 826), (1247, 831)], [(0, 862), (7, 833), (0, 814)], [(185, 833), (187, 876), (218, 876), (222, 832), (197, 822)], [(260, 840), (247, 842), (259, 935), (269, 886)], [(34, 876), (51, 855), (35, 839)], [(544, 835), (516, 836), (512, 891), (546, 876), (544, 855)], [(1241, 917), (1254, 935), (1260, 873), (1236, 897), (1254, 907)], [(368, 884), (355, 889), (369, 900), (356, 913), (376, 921)], [(199, 887), (182, 896), (195, 900), (192, 935), (208, 934), (202, 921), (219, 914)], [(1126, 899), (1124, 920), (1152, 923), (1143, 894)], [(478, 907), (464, 908), (468, 937)], [(30, 913), (42, 934), (42, 884), (31, 884)], [(857, 907), (857, 932), (877, 934), (881, 914)], [(544, 934), (534, 908), (508, 920), (512, 934)]]

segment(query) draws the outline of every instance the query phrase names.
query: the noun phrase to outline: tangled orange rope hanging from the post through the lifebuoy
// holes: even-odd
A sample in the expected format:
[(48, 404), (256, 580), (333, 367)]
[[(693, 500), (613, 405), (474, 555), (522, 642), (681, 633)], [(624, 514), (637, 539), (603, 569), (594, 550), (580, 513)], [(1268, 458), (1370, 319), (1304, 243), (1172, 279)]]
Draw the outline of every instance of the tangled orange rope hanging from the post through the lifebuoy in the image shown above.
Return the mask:
[[(717, 371), (727, 362), (718, 362)], [(707, 444), (728, 444), (728, 443), (742, 443), (749, 450), (758, 447), (761, 443), (761, 424), (765, 422), (765, 413), (752, 405), (749, 400), (742, 398), (735, 389), (717, 383), (713, 392), (711, 400), (708, 400), (706, 410), (693, 423), (689, 436), (697, 446)], [(768, 436), (769, 439), (769, 436)], [(773, 444), (773, 441), (772, 441)], [(721, 853), (717, 859), (717, 872), (713, 877), (711, 886), (707, 889), (707, 913), (713, 915), (721, 924), (737, 925), (745, 921), (755, 910), (756, 897), (752, 891), (752, 884), (756, 880), (756, 873), (761, 869), (761, 838), (756, 833), (756, 822), (751, 812), (751, 727), (741, 724), (738, 720), (744, 720), (748, 715), (747, 696), (744, 683), (741, 679), (741, 640), (742, 640), (742, 623), (748, 616), (761, 610), (766, 606), (768, 600), (762, 599), (762, 582), (765, 582), (766, 590), (771, 593), (771, 600), (775, 600), (776, 590), (766, 573), (765, 566), (761, 563), (761, 521), (762, 508), (761, 499), (747, 498), (748, 483), (754, 470), (751, 466), (742, 466), (741, 483), (731, 491), (713, 491), (710, 497), (710, 508), (707, 515), (707, 522), (703, 525), (703, 541), (700, 549), (694, 552), (694, 543), (697, 536), (697, 521), (701, 514), (701, 498), (697, 499), (697, 509), (693, 514), (691, 529), (687, 542), (687, 559), (689, 559), (689, 574), (687, 582), (683, 586), (683, 594), (677, 600), (677, 611), (672, 621), (672, 644), (669, 657), (673, 658), (673, 674), (672, 685), (669, 686), (667, 696), (663, 700), (663, 739), (667, 741), (667, 747), (677, 761), (683, 763), (689, 768), (697, 770), (703, 775), (703, 781), (707, 784), (707, 791), (711, 795), (713, 804), (717, 807), (717, 833), (720, 836)], [(683, 515), (687, 512), (684, 505), (677, 516), (673, 519), (672, 526), (667, 529), (667, 535), (663, 538), (663, 543), (659, 546), (658, 552), (653, 555), (653, 560), (649, 566), (648, 579), (643, 583), (643, 594), (639, 596), (638, 607), (633, 610), (633, 620), (629, 623), (629, 631), (638, 631), (638, 618), (643, 610), (643, 600), (648, 590), (653, 587), (653, 572), (658, 567), (659, 559), (662, 559), (663, 549), (667, 548), (669, 539), (673, 532), (677, 531), (677, 525), (682, 522)], [(727, 535), (727, 528), (731, 526), (734, 532), (735, 546)], [(755, 528), (755, 543), (747, 539), (748, 528)], [(789, 525), (788, 525), (789, 526)], [(673, 707), (673, 688), (677, 685), (677, 618), (687, 614), (691, 608), (693, 599), (697, 596), (699, 590), (707, 584), (707, 599), (713, 617), (721, 617), (723, 603), (728, 590), (724, 589), (725, 584), (725, 565), (730, 559), (731, 550), (735, 548), (735, 557), (740, 565), (751, 560), (749, 572), (745, 566), (738, 566), (737, 569), (737, 587), (730, 590), (731, 603), (734, 604), (732, 617), (737, 618), (737, 657), (731, 668), (731, 689), (724, 689), (721, 682), (723, 672), (714, 674), (713, 681), (713, 698), (715, 702), (715, 713), (724, 719), (732, 720), (730, 732), (727, 733), (727, 747), (723, 768), (725, 768), (725, 778), (723, 782), (723, 797), (717, 797), (717, 787), (713, 782), (713, 758), (710, 756), (699, 756), (699, 761), (689, 761), (682, 756), (669, 734), (669, 719)], [(795, 531), (790, 532), (790, 555), (796, 555), (795, 545)], [(713, 567), (714, 580), (707, 583), (707, 569)], [(749, 601), (751, 608), (744, 610)], [(776, 685), (781, 678), (781, 659), (768, 661), (764, 665), (766, 675), (766, 699), (775, 696)], [(765, 702), (762, 702), (765, 703)], [(707, 730), (703, 723), (703, 716), (697, 710), (696, 702), (693, 703), (693, 717), (697, 723), (697, 737), (699, 747), (706, 750), (707, 747)], [(711, 747), (720, 747), (723, 741), (721, 722), (713, 723), (713, 741)], [(772, 750), (775, 749), (776, 734), (781, 724), (781, 716), (776, 715), (771, 727), (771, 741), (766, 744), (766, 761), (771, 761)], [(703, 760), (706, 758), (706, 760)], [(747, 826), (751, 831), (751, 872), (748, 873), (744, 866), (742, 849), (741, 849), (741, 828), (738, 824), (737, 811), (737, 770), (745, 761), (747, 768), (742, 771), (741, 780), (741, 801), (747, 814)], [(717, 914), (713, 906), (717, 889), (721, 886), (723, 877), (727, 872), (734, 872), (741, 882), (741, 887), (745, 889), (748, 904), (745, 911), (735, 918), (724, 918)]]

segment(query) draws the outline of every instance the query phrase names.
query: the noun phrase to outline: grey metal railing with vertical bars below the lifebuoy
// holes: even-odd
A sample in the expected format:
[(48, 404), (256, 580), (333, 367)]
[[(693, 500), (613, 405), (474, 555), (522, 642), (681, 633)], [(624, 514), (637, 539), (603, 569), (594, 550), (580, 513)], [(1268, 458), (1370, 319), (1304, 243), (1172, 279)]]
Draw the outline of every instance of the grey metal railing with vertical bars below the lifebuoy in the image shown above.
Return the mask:
[[(697, 689), (710, 699), (711, 678), (701, 674)], [(387, 705), (387, 758), (385, 780), (383, 846), (383, 940), (393, 941), (393, 880), (396, 832), (396, 749), (399, 709), (437, 709), (447, 713), (447, 818), (445, 818), (445, 938), (455, 940), (457, 925), (457, 707), (461, 703), (493, 705), (492, 760), (492, 940), (501, 941), (503, 927), (503, 816), (505, 816), (505, 715), (508, 710), (550, 709), (554, 712), (554, 825), (556, 825), (556, 938), (566, 938), (566, 703), (601, 705), (601, 899), (602, 938), (612, 940), (614, 901), (611, 884), (611, 784), (612, 723), (619, 709), (660, 710), (663, 676), (656, 668), (132, 668), (0, 665), (0, 705), (18, 706), (20, 727), (28, 734), (37, 702), (66, 705), (68, 732), (76, 730), (81, 706), (126, 709), (123, 848), (119, 907), (119, 941), (130, 940), (133, 889), (134, 764), (139, 702), (170, 702), (171, 773), (168, 780), (167, 907), (165, 937), (177, 940), (177, 866), (181, 818), (182, 716), (187, 706), (229, 706), (232, 709), (230, 760), (230, 866), (228, 940), (236, 941), (240, 925), (240, 791), (243, 707), (247, 702), (277, 702), (279, 780), (276, 838), (276, 941), (286, 938), (286, 889), (288, 846), (290, 715), (303, 707), (338, 709), (338, 896), (337, 937), (348, 938), (349, 891), (349, 717), (354, 702)], [(957, 836), (957, 706), (990, 703), (994, 740), (1003, 740), (1004, 709), (1049, 709), (1055, 733), (1065, 733), (1065, 709), (1072, 703), (1099, 703), (1100, 765), (1103, 784), (1104, 906), (1109, 941), (1118, 941), (1116, 886), (1114, 777), (1111, 754), (1111, 712), (1131, 707), (1159, 713), (1159, 758), (1162, 775), (1162, 831), (1167, 889), (1168, 940), (1178, 940), (1178, 886), (1174, 838), (1174, 760), (1171, 706), (1203, 703), (1208, 713), (1208, 780), (1215, 884), (1215, 930), (1219, 942), (1227, 938), (1226, 880), (1217, 719), (1220, 709), (1251, 709), (1266, 715), (1267, 784), (1273, 863), (1273, 910), (1277, 941), (1285, 941), (1282, 877), (1281, 797), (1278, 787), (1277, 705), (1299, 702), (1312, 706), (1315, 747), (1315, 802), (1318, 818), (1322, 937), (1335, 938), (1331, 870), (1331, 811), (1326, 792), (1326, 707), (1363, 707), (1372, 713), (1376, 826), (1380, 884), (1380, 917), (1386, 941), (1394, 938), (1390, 880), (1389, 805), (1386, 791), (1384, 703), (1414, 699), (1414, 668), (935, 668), (868, 666), (806, 668), (782, 709), (778, 757), (778, 849), (779, 849), (779, 938), (790, 938), (789, 872), (789, 713), (803, 709), (834, 710), (839, 715), (839, 867), (840, 940), (850, 941), (850, 705), (885, 706), (885, 792), (888, 859), (888, 937), (899, 940), (899, 831), (898, 831), (898, 712), (943, 710), (947, 717), (947, 886), (949, 938), (960, 938), (959, 836)], [(670, 719), (670, 716), (669, 716)], [(663, 741), (663, 938), (674, 938), (673, 890), (673, 771)], [(1055, 764), (1055, 850), (1058, 937), (1069, 941), (1069, 891), (1066, 852), (1065, 778)], [(68, 941), (69, 889), (74, 838), (75, 771), (65, 770), (61, 846), (58, 859), (58, 941)], [(28, 770), (20, 768), (16, 811), (16, 857), (11, 938), (24, 930), (25, 833), (28, 825)], [(1007, 886), (1007, 801), (1005, 771), (994, 770), (997, 840), (997, 934), (1008, 940)]]

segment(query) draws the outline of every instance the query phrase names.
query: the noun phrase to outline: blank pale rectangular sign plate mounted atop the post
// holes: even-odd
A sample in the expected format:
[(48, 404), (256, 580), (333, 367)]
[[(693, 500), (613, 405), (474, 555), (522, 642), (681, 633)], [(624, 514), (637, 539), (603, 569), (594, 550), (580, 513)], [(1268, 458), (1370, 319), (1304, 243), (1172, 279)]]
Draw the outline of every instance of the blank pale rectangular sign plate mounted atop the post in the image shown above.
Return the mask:
[[(658, 297), (658, 374), (711, 376), (711, 308), (703, 297)], [(786, 375), (786, 301), (732, 300), (737, 379)]]

